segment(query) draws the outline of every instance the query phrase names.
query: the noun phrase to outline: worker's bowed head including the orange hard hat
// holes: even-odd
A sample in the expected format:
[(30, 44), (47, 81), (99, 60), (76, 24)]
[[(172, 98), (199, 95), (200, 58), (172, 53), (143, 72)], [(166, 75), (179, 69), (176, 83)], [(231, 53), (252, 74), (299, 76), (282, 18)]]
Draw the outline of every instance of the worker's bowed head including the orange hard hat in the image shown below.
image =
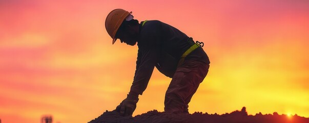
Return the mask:
[(132, 12), (123, 9), (115, 9), (106, 17), (105, 28), (113, 38), (113, 44), (117, 39), (121, 43), (135, 45), (138, 39), (139, 24), (138, 20), (133, 19)]

